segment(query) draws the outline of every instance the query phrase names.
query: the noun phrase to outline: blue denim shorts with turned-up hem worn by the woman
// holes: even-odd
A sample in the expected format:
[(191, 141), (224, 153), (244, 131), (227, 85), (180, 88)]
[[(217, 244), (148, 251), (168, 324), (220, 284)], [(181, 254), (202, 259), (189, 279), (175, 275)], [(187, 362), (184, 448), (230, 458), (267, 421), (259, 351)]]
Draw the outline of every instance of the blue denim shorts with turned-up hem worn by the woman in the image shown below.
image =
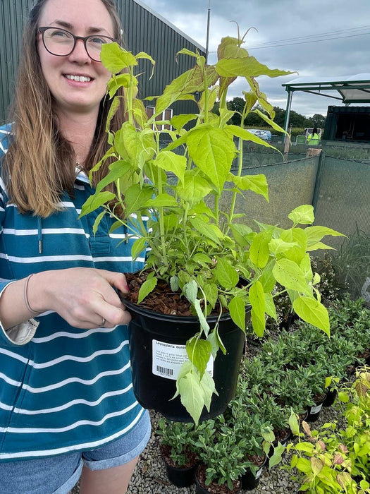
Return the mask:
[(150, 434), (149, 413), (144, 411), (129, 433), (97, 450), (0, 463), (0, 493), (67, 494), (78, 483), (82, 466), (103, 470), (128, 463), (144, 450)]

